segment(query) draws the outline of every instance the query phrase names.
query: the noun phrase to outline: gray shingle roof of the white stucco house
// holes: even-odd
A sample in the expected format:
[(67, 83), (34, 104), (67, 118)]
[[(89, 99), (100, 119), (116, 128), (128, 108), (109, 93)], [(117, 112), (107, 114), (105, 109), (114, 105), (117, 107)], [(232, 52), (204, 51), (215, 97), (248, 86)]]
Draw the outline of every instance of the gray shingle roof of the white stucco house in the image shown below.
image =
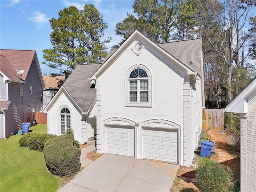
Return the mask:
[[(166, 52), (174, 56), (188, 68), (201, 75), (201, 38), (161, 43), (158, 44), (158, 46), (166, 50)], [(90, 78), (116, 50), (117, 49), (111, 49), (102, 63), (79, 64), (64, 82), (64, 88), (84, 112), (88, 111), (96, 96), (96, 89), (90, 88), (92, 84), (88, 78)], [(190, 64), (190, 62), (192, 62), (192, 64)]]

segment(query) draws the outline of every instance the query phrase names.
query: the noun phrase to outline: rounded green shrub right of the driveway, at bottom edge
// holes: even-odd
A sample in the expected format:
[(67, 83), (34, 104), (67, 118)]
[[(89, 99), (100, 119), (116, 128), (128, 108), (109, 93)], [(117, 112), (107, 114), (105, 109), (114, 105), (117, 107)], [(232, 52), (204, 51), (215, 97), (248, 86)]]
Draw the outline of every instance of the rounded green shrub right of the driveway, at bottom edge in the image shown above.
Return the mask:
[(232, 192), (234, 188), (234, 182), (229, 173), (223, 166), (212, 160), (198, 166), (196, 180), (200, 192)]

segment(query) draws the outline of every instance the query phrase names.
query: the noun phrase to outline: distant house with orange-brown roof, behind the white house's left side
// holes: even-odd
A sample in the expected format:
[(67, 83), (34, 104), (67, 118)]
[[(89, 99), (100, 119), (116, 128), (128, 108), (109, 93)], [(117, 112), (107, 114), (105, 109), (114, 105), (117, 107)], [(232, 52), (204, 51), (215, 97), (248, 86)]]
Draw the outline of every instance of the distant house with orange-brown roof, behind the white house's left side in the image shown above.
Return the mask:
[(65, 81), (65, 76), (43, 76), (45, 89), (43, 91), (43, 108), (48, 105), (53, 96), (58, 92), (59, 88)]

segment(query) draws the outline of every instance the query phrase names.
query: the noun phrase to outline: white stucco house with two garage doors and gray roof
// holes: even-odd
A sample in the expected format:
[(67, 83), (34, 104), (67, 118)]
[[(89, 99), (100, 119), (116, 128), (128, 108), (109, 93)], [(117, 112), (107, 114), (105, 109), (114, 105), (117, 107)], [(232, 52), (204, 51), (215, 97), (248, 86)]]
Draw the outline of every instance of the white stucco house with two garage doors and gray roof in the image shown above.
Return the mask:
[(201, 38), (156, 44), (136, 30), (102, 64), (76, 67), (44, 110), (48, 133), (71, 127), (84, 143), (96, 130), (98, 153), (190, 166), (203, 85)]

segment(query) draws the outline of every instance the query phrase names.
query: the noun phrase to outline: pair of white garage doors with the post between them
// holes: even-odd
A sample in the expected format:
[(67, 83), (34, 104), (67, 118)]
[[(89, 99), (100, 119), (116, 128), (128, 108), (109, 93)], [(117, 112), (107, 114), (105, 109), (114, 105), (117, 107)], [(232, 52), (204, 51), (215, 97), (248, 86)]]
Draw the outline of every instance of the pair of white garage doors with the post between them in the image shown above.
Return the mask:
[(106, 153), (178, 163), (176, 128), (105, 125), (104, 135)]

